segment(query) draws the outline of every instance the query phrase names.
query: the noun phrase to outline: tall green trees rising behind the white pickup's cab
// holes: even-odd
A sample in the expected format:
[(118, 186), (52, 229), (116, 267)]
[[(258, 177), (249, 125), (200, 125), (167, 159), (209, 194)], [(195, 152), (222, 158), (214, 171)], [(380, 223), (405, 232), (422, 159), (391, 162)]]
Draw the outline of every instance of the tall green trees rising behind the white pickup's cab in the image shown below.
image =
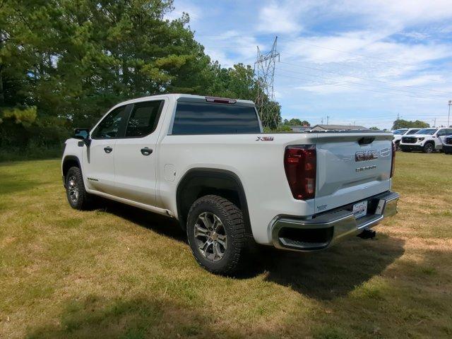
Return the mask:
[[(249, 65), (222, 67), (172, 0), (0, 2), (0, 147), (61, 145), (132, 97), (191, 93), (254, 100)], [(279, 107), (279, 105), (278, 105)]]

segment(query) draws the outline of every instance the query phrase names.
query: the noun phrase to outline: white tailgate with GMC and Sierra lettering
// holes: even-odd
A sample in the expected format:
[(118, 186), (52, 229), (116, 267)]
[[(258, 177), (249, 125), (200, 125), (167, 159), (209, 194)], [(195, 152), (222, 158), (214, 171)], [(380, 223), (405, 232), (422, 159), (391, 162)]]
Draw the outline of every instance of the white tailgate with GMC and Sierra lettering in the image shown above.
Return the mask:
[(391, 189), (392, 138), (378, 132), (319, 134), (316, 213)]

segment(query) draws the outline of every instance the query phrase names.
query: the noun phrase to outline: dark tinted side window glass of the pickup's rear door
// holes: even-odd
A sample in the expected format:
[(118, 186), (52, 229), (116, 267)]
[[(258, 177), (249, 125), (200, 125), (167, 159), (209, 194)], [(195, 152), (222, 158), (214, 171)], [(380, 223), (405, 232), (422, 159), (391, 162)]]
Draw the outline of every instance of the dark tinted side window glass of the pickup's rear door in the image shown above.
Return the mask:
[(162, 103), (163, 100), (134, 104), (127, 124), (126, 138), (139, 138), (153, 133), (157, 127)]

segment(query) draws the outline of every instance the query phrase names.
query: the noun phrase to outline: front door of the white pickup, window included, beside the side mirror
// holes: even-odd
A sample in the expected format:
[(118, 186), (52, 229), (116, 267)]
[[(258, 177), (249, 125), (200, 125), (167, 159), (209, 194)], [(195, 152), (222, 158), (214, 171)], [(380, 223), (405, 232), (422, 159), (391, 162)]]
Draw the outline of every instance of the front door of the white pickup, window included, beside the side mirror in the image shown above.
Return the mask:
[(83, 175), (88, 189), (114, 193), (114, 156), (116, 142), (126, 126), (127, 107), (109, 112), (91, 132), (90, 147), (83, 149)]

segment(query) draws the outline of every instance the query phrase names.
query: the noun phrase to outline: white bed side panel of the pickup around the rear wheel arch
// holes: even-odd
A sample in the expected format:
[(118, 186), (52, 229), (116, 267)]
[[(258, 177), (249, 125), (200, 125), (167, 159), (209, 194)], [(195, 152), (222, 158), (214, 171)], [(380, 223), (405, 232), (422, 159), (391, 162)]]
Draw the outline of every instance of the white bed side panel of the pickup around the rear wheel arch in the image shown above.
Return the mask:
[[(297, 201), (285, 177), (284, 150), (289, 144), (311, 144), (316, 134), (275, 134), (259, 141), (259, 134), (165, 136), (157, 162), (157, 196), (161, 207), (177, 215), (176, 189), (194, 168), (224, 169), (239, 177), (246, 194), (254, 239), (270, 243), (268, 224), (276, 215), (312, 215), (314, 199)], [(268, 136), (267, 134), (265, 136)], [(173, 181), (165, 167), (174, 169)]]

